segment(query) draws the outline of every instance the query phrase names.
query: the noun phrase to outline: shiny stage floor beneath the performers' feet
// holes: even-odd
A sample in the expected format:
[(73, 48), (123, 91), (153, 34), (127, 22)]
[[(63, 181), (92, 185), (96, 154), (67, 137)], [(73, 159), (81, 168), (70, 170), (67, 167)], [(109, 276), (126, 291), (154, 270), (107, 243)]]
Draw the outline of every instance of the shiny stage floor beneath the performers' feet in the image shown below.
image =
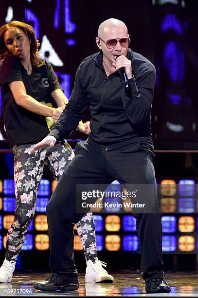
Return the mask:
[(42, 296), (42, 297), (198, 297), (198, 274), (175, 272), (166, 274), (171, 286), (170, 294), (146, 294), (144, 280), (139, 274), (116, 273), (114, 283), (85, 283), (85, 275), (79, 274), (80, 288), (77, 291), (41, 292), (34, 289), (35, 281), (47, 279), (49, 273), (16, 272), (12, 283), (0, 283), (0, 296)]

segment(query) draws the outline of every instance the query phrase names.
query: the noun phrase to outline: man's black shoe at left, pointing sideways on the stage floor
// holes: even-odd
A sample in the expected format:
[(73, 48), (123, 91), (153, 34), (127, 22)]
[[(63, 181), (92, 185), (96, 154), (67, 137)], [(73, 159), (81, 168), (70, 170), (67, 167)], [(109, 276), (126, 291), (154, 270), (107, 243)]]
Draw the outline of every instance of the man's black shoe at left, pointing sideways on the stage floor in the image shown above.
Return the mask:
[(74, 291), (79, 288), (79, 282), (77, 277), (68, 276), (62, 278), (60, 276), (52, 275), (46, 280), (36, 282), (34, 288), (41, 291)]

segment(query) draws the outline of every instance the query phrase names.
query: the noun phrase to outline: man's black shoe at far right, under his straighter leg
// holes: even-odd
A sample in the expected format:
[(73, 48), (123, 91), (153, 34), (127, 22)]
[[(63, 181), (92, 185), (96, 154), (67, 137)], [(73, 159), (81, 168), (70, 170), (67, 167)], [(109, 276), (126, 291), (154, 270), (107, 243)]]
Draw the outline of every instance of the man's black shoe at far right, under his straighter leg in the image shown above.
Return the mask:
[(147, 293), (170, 293), (171, 289), (165, 279), (149, 279), (146, 281)]

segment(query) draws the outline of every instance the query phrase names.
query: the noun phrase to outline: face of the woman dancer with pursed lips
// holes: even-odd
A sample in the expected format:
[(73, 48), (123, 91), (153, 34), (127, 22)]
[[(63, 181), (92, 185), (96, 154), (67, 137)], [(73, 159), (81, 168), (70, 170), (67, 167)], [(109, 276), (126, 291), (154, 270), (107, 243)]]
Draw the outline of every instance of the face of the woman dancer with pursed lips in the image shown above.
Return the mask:
[(19, 28), (9, 28), (4, 34), (6, 48), (13, 55), (25, 60), (30, 56), (30, 40)]

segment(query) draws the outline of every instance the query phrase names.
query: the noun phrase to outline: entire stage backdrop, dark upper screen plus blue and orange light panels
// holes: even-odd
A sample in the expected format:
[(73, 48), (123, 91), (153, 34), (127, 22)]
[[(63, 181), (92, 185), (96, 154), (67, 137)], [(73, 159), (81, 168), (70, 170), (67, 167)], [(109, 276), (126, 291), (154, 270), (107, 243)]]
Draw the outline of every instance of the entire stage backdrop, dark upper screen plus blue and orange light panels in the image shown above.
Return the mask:
[[(157, 152), (156, 176), (160, 191), (163, 180), (169, 180), (166, 183), (170, 187), (176, 184), (175, 192), (160, 192), (160, 200), (166, 199), (165, 203), (161, 203), (167, 207), (163, 214), (163, 252), (169, 254), (165, 257), (165, 265), (180, 268), (180, 256), (177, 257), (178, 262), (175, 256), (176, 253), (183, 253), (185, 256), (182, 260), (188, 260), (182, 262), (183, 266), (194, 268), (195, 253), (198, 251), (198, 163), (197, 153), (192, 153), (192, 150), (198, 149), (198, 1), (1, 0), (0, 3), (0, 26), (17, 19), (34, 27), (41, 43), (41, 57), (52, 63), (68, 97), (79, 63), (98, 50), (95, 43), (98, 25), (111, 17), (126, 23), (131, 38), (130, 47), (147, 57), (157, 70), (152, 108), (153, 140)], [(83, 120), (89, 119), (87, 111)], [(85, 139), (85, 135), (74, 131), (70, 139), (72, 148), (80, 139)], [(3, 258), (5, 235), (15, 202), (13, 155), (5, 150), (9, 148), (9, 144), (2, 112), (0, 148), (0, 251)], [(168, 150), (180, 153), (168, 153)], [(186, 187), (183, 193), (180, 193), (180, 185)], [(21, 259), (18, 259), (18, 268), (47, 267), (49, 243), (42, 202), (48, 201), (53, 187), (52, 177), (46, 170), (35, 221), (20, 254)], [(179, 201), (180, 199), (183, 201)], [(175, 209), (171, 207), (174, 204)], [(138, 269), (140, 258), (137, 256), (140, 251), (133, 220), (130, 219), (131, 225), (128, 227), (124, 225), (123, 216), (109, 216), (114, 217), (102, 215), (100, 218), (95, 214), (99, 256), (106, 261), (108, 259), (111, 268), (120, 268), (122, 264), (122, 268), (131, 269), (128, 264), (129, 259), (132, 259), (133, 268)], [(75, 241), (75, 253), (81, 256), (76, 261), (84, 266), (77, 235)], [(137, 253), (135, 257), (134, 252)], [(118, 256), (117, 260), (120, 261), (116, 263), (114, 260)], [(40, 260), (39, 264), (34, 261), (37, 258)]]

